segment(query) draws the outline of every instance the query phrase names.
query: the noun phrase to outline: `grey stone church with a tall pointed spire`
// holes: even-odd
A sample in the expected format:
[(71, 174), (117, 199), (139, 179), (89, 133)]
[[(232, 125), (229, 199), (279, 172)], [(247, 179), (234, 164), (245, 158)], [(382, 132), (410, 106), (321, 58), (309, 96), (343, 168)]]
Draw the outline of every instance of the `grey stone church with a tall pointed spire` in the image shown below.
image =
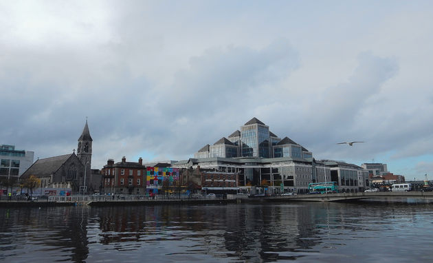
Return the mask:
[(38, 159), (21, 176), (20, 180), (36, 176), (42, 188), (70, 188), (72, 193), (91, 193), (99, 185), (92, 183), (91, 151), (93, 139), (86, 125), (78, 138), (77, 154)]

